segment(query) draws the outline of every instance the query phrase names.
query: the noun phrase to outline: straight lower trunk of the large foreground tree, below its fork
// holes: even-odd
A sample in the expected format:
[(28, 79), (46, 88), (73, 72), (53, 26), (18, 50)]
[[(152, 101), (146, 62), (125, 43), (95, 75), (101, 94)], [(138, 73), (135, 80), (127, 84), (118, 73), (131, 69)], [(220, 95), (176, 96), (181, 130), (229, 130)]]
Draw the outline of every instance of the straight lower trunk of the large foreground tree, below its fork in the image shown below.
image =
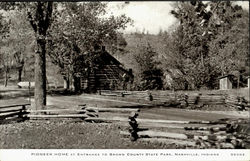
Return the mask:
[(46, 40), (37, 39), (38, 50), (35, 54), (35, 106), (43, 109), (46, 105)]

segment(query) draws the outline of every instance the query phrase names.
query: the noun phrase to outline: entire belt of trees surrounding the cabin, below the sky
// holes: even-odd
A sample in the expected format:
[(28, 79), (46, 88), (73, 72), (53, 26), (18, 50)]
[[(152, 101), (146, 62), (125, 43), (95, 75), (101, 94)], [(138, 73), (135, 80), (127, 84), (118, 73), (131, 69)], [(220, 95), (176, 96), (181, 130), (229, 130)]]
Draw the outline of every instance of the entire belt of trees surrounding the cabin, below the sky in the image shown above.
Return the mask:
[[(0, 83), (35, 81), (46, 102), (46, 82), (75, 90), (105, 46), (135, 76), (130, 90), (218, 89), (232, 74), (236, 88), (249, 76), (249, 11), (230, 1), (175, 2), (178, 20), (157, 35), (122, 32), (133, 20), (107, 15), (104, 2), (1, 2)], [(47, 72), (47, 75), (46, 75)], [(39, 84), (39, 85), (38, 85)]]

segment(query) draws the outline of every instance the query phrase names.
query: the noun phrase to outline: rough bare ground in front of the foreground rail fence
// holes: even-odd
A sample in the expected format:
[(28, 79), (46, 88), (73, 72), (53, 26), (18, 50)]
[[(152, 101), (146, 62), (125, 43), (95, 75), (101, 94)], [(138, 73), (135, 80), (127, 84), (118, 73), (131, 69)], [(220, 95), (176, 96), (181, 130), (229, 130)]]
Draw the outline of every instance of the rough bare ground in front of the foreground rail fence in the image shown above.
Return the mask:
[(115, 124), (35, 121), (0, 125), (0, 149), (162, 149), (175, 145), (132, 142)]

